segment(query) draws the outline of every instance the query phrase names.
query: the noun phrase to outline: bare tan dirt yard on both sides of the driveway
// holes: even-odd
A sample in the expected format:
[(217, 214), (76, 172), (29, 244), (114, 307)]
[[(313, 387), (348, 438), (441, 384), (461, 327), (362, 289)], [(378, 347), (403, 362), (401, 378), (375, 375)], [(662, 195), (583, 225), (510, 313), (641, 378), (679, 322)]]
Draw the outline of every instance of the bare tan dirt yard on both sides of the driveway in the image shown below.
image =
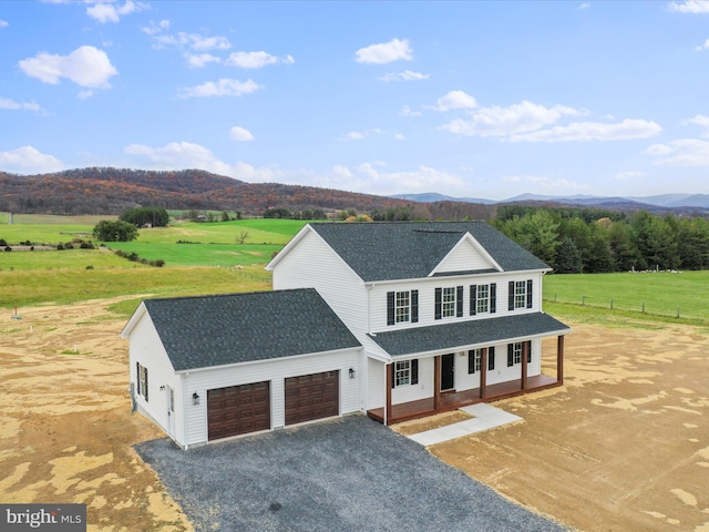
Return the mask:
[[(115, 300), (0, 316), (0, 502), (86, 503), (91, 531), (192, 530), (131, 448), (162, 434), (131, 415)], [(579, 530), (709, 532), (708, 351), (689, 327), (574, 326), (563, 388), (430, 451)]]

